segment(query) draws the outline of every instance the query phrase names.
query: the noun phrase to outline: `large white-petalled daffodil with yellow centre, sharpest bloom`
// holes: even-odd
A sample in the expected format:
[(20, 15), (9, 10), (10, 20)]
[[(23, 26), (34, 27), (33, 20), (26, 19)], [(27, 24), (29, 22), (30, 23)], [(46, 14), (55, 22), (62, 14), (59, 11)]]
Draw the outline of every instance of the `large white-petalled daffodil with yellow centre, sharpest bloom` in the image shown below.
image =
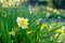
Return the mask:
[(18, 27), (26, 29), (28, 27), (28, 19), (24, 17), (17, 17), (16, 19)]

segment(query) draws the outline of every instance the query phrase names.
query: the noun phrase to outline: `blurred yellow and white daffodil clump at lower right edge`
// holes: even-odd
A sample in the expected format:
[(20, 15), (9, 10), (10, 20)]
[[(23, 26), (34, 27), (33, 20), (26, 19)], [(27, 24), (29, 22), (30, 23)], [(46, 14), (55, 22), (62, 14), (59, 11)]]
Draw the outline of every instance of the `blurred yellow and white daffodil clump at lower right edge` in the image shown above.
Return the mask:
[[(61, 42), (62, 40), (64, 40), (65, 39), (65, 26), (62, 26), (61, 28), (58, 28), (57, 30), (56, 30), (56, 34), (54, 35), (54, 37), (56, 37), (58, 33), (61, 33), (61, 35), (57, 38), (58, 39), (58, 41)], [(63, 41), (64, 42), (64, 41)], [(65, 42), (64, 42), (65, 43)]]

